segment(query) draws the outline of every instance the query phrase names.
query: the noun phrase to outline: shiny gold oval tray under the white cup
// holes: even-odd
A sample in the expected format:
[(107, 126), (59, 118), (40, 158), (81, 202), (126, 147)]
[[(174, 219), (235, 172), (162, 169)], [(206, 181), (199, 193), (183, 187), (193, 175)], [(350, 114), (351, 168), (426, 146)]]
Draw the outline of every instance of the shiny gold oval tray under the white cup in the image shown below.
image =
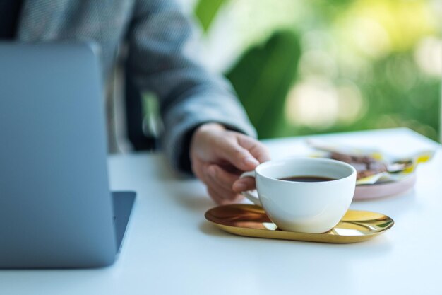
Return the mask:
[(215, 207), (205, 212), (205, 219), (223, 231), (239, 236), (321, 243), (366, 241), (386, 232), (395, 223), (383, 214), (348, 210), (339, 224), (326, 233), (296, 233), (277, 229), (261, 207), (247, 204)]

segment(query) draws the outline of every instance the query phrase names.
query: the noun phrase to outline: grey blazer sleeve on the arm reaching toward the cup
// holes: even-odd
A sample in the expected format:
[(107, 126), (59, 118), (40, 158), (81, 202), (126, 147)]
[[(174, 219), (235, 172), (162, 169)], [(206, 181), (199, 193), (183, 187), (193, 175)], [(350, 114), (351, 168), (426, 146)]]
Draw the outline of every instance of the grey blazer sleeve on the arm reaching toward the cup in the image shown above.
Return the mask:
[(159, 99), (162, 148), (174, 168), (189, 172), (191, 134), (205, 122), (256, 137), (232, 86), (196, 61), (191, 22), (177, 3), (136, 1), (128, 34), (128, 70), (141, 91)]

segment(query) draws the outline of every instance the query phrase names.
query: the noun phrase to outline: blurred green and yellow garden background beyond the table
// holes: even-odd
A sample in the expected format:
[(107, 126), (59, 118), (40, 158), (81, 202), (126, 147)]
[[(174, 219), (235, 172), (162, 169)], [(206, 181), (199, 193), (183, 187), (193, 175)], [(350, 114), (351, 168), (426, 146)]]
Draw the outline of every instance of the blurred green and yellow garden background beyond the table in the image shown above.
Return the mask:
[(261, 139), (390, 127), (440, 139), (442, 1), (180, 1)]

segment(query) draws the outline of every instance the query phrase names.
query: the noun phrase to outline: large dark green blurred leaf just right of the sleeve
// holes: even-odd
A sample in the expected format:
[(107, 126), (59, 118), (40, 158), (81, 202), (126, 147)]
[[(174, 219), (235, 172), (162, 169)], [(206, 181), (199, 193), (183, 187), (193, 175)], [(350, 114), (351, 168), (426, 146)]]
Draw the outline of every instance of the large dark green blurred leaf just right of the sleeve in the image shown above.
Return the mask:
[(251, 48), (227, 73), (260, 138), (282, 135), (285, 99), (300, 55), (299, 36), (280, 31), (262, 47)]

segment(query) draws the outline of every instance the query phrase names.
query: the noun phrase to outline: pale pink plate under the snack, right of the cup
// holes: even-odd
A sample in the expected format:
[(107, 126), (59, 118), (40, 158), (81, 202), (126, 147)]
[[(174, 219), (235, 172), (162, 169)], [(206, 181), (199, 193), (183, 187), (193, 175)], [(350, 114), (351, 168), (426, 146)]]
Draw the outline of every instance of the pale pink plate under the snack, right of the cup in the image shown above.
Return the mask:
[(416, 183), (416, 174), (412, 174), (410, 177), (399, 181), (374, 185), (357, 185), (353, 199), (377, 199), (379, 197), (398, 195), (410, 190), (414, 186), (414, 183)]

